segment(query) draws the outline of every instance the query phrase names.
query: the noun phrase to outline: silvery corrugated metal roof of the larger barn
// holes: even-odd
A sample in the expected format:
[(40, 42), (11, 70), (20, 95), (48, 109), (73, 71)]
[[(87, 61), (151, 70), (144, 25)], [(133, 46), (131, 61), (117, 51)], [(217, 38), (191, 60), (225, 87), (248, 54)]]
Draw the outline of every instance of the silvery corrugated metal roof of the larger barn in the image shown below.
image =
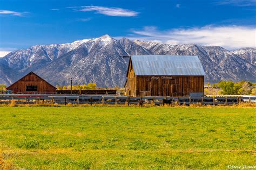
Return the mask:
[(205, 75), (198, 56), (132, 55), (136, 75)]

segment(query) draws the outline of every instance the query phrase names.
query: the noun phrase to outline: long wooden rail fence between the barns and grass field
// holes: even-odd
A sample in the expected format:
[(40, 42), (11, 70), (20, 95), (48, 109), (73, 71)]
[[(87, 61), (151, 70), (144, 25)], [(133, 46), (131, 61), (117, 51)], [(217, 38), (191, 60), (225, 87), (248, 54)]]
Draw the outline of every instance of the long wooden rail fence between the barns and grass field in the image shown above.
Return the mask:
[(128, 97), (110, 95), (0, 95), (0, 104), (197, 104), (201, 105), (230, 105), (239, 103), (256, 103), (256, 96), (204, 96), (204, 97)]

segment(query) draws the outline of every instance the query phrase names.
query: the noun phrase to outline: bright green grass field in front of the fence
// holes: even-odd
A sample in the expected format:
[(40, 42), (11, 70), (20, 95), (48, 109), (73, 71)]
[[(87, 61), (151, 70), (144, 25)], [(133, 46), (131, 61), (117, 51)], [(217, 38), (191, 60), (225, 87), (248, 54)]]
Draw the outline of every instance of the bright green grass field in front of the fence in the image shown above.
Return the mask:
[(255, 166), (255, 114), (228, 107), (0, 107), (0, 166)]

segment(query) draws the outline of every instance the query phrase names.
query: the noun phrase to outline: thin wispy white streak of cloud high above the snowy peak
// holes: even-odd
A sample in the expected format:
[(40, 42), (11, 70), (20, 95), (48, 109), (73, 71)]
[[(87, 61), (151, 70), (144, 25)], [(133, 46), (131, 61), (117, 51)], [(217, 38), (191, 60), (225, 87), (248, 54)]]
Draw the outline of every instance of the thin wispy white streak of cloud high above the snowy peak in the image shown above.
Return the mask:
[(118, 16), (118, 17), (135, 17), (139, 13), (132, 10), (122, 8), (107, 8), (103, 6), (81, 6), (78, 11), (95, 11), (106, 16)]

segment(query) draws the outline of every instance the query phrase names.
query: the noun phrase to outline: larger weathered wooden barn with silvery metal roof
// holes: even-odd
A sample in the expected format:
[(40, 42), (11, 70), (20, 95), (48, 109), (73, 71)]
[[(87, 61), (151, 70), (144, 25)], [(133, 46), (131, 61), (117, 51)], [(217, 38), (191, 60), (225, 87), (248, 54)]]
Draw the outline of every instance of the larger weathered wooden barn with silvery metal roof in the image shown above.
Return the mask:
[(203, 96), (204, 69), (198, 56), (132, 55), (127, 96)]

